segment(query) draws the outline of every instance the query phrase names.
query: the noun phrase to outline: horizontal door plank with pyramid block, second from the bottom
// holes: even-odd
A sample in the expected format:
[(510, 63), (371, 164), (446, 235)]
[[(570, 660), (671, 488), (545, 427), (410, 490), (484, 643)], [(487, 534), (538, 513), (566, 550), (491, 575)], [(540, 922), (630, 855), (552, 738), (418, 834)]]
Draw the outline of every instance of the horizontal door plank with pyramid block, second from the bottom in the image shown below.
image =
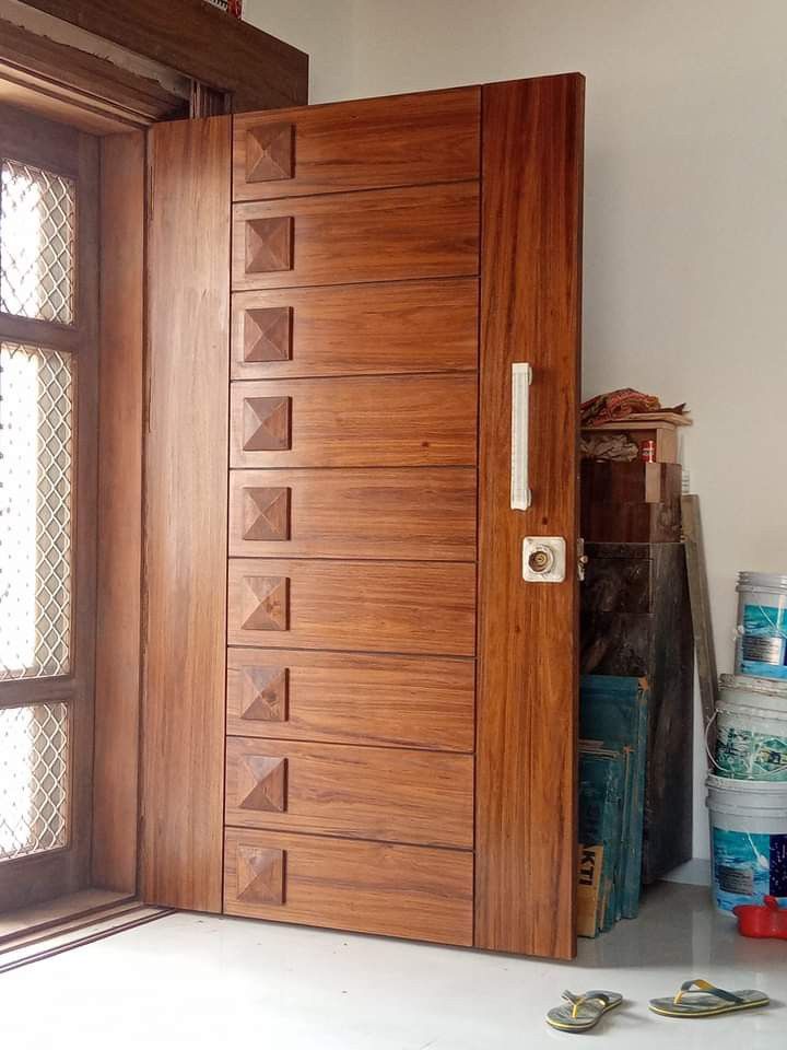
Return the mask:
[(232, 827), (472, 849), (473, 759), (231, 736), (225, 820)]

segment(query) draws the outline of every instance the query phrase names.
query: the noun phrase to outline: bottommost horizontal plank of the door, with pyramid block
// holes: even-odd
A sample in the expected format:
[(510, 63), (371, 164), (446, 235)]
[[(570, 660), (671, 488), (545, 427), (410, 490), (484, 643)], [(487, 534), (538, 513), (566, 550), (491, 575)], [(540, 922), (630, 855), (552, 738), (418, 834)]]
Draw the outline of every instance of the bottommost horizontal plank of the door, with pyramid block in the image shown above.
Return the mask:
[(470, 945), (472, 868), (462, 851), (228, 829), (224, 911)]

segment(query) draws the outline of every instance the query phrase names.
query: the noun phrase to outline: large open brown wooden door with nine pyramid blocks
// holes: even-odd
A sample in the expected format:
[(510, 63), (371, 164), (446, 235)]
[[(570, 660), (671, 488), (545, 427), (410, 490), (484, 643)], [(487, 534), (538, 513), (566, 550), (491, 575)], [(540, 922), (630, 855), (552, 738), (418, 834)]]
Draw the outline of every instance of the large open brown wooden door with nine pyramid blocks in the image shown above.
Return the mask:
[(149, 900), (573, 954), (582, 90), (153, 130)]

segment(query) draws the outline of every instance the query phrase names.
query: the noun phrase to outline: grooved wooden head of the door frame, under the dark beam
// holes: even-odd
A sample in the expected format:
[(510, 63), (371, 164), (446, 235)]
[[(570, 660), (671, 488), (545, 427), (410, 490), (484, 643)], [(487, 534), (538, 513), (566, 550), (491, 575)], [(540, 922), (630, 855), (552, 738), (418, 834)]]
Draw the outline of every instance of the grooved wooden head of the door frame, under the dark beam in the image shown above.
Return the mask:
[(0, 20), (0, 97), (97, 132), (188, 115), (186, 98), (104, 58)]

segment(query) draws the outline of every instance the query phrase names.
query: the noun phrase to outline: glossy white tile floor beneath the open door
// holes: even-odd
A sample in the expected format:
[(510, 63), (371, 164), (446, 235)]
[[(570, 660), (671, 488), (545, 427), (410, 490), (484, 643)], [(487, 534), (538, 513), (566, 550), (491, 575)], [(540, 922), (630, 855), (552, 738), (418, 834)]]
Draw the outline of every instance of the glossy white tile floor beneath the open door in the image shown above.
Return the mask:
[[(690, 977), (759, 988), (768, 1010), (679, 1022), (646, 1008)], [(0, 1045), (188, 1050), (503, 1050), (564, 988), (626, 1004), (585, 1038), (636, 1050), (787, 1048), (787, 942), (739, 937), (707, 889), (665, 884), (572, 965), (239, 919), (174, 914), (0, 977)]]

